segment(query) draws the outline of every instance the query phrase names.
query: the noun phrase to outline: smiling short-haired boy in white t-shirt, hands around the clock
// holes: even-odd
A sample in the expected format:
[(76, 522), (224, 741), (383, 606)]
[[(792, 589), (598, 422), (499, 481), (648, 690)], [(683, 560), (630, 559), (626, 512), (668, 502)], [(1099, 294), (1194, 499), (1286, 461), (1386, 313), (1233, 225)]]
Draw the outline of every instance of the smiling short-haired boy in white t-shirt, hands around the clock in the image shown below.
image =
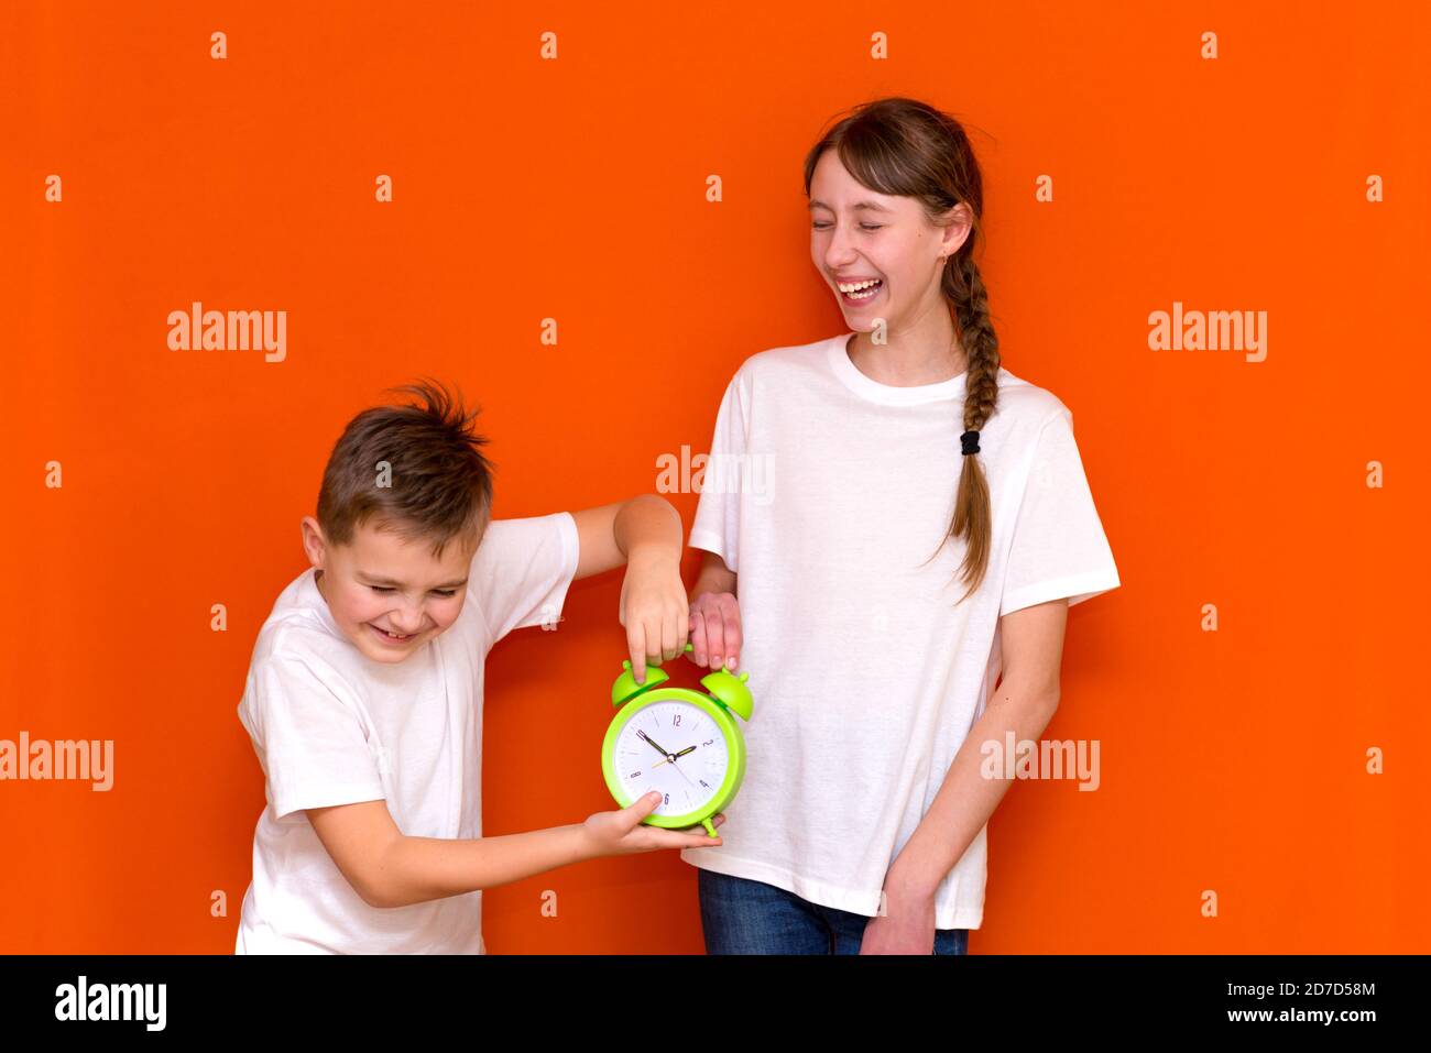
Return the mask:
[[(681, 521), (654, 495), (489, 522), (475, 418), (425, 405), (353, 418), (329, 456), (312, 567), (259, 631), (239, 720), (266, 777), (235, 951), (485, 953), (482, 893), (598, 856), (718, 846), (641, 824), (648, 794), (571, 826), (482, 837), (482, 664), (554, 624), (574, 578), (627, 564), (633, 670), (688, 632)], [(534, 757), (537, 757), (534, 751)], [(724, 821), (716, 817), (717, 824)]]

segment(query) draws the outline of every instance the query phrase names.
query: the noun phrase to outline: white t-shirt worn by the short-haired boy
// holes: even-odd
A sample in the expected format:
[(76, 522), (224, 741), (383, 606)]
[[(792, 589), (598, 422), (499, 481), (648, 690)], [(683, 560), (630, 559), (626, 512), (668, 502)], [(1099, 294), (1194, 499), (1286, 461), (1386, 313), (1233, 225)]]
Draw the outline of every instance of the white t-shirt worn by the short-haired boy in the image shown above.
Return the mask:
[(348, 641), (313, 568), (283, 589), (239, 704), (268, 805), (235, 953), (485, 953), (479, 890), (369, 907), (303, 810), (385, 800), (409, 837), (481, 837), (484, 660), (512, 630), (557, 622), (577, 555), (570, 512), (489, 522), (456, 621), (398, 664)]

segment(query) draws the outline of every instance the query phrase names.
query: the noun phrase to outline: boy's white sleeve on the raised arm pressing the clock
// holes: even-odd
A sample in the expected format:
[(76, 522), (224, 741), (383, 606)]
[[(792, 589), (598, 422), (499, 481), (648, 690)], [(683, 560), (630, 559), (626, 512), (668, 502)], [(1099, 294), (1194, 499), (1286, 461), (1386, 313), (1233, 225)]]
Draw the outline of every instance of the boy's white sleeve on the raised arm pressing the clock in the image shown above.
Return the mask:
[(577, 577), (580, 547), (571, 512), (487, 525), (472, 557), (468, 591), (494, 644), (512, 630), (555, 625)]

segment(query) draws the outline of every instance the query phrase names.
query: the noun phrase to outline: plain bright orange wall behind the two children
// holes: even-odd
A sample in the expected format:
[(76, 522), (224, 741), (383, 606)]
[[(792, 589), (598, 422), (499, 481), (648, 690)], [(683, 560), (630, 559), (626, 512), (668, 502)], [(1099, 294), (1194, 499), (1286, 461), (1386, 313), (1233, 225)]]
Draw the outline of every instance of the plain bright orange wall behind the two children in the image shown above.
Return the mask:
[[(880, 94), (967, 122), (1005, 366), (1072, 408), (1123, 579), (1045, 735), (1099, 740), (1102, 787), (1012, 788), (972, 950), (1425, 950), (1428, 40), (1420, 3), (6, 4), (0, 738), (113, 738), (116, 784), (0, 784), (0, 951), (232, 951), (235, 707), (343, 423), (431, 373), (485, 408), (498, 515), (653, 491), (746, 356), (843, 330), (800, 163)], [(286, 361), (169, 351), (193, 300), (288, 310)], [(1175, 300), (1266, 310), (1266, 359), (1151, 351)], [(494, 651), (487, 833), (614, 807), (618, 592)], [(555, 781), (512, 748), (552, 715)], [(700, 951), (695, 874), (538, 876), (485, 934)]]

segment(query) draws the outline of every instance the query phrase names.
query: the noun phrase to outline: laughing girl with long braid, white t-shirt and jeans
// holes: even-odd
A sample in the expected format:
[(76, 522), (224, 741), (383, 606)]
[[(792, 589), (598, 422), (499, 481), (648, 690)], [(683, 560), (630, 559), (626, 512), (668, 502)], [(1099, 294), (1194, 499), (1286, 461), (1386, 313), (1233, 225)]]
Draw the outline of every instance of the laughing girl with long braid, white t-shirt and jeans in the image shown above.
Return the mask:
[(681, 857), (708, 953), (962, 954), (1012, 774), (980, 765), (1039, 738), (1118, 568), (1069, 409), (1000, 365), (963, 127), (856, 107), (804, 187), (849, 332), (753, 355), (717, 415), (691, 660), (757, 708), (724, 847)]

